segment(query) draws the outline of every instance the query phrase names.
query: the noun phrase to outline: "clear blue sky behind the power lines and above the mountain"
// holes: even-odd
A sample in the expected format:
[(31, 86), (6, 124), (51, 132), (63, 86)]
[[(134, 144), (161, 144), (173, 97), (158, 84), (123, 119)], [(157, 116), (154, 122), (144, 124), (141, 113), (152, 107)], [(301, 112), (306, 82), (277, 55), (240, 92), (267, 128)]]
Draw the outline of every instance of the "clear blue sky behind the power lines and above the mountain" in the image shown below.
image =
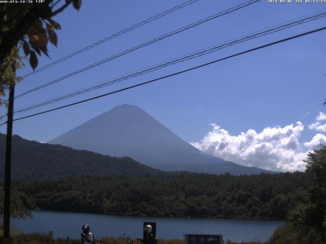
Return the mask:
[[(51, 59), (40, 57), (39, 67), (182, 2), (184, 1), (83, 1), (79, 12), (70, 7), (53, 18), (62, 25), (62, 31), (57, 32), (58, 48), (49, 44)], [(16, 86), (15, 92), (20, 94), (100, 59), (243, 2), (200, 0), (107, 41), (66, 62), (30, 76)], [(324, 9), (326, 9), (326, 4), (268, 4), (267, 1), (262, 0), (21, 97), (15, 101), (15, 108), (56, 97)], [(32, 111), (43, 111), (68, 102), (104, 94), (111, 90), (323, 27), (325, 23), (325, 18), (321, 18)], [(288, 131), (287, 126), (292, 124), (293, 130), (290, 128), (290, 132), (286, 135), (290, 135), (295, 130), (298, 131), (298, 134), (293, 136), (294, 139), (290, 136), (296, 140), (296, 146), (291, 148), (291, 152), (297, 156), (305, 154), (308, 149), (311, 149), (311, 146), (305, 147), (304, 143), (311, 142), (316, 134), (323, 135), (324, 132), (320, 128), (319, 130), (309, 129), (308, 126), (316, 123), (316, 116), (319, 112), (325, 111), (325, 107), (322, 105), (326, 98), (325, 37), (326, 31), (319, 32), (113, 96), (19, 120), (14, 123), (13, 133), (30, 140), (48, 141), (117, 105), (128, 103), (140, 106), (178, 136), (188, 142), (193, 142), (194, 145), (212, 155), (223, 156), (244, 165), (256, 165), (270, 169), (302, 170), (302, 166), (299, 167), (297, 164), (291, 167), (278, 166), (277, 160), (266, 159), (266, 164), (254, 164), (249, 163), (250, 157), (233, 157), (238, 153), (239, 147), (228, 148), (227, 154), (221, 154), (216, 151), (218, 148), (216, 145), (220, 145), (223, 137), (220, 141), (216, 138), (217, 141), (210, 141), (207, 136), (221, 135), (221, 129), (226, 130), (228, 133), (224, 137), (224, 141), (230, 140), (229, 145), (231, 145), (231, 142), (239, 138), (238, 135), (241, 135), (241, 132), (246, 133), (252, 129), (262, 136), (261, 133), (266, 128), (278, 128), (279, 130), (276, 131), (281, 131), (283, 128), (283, 131)], [(18, 72), (18, 75), (29, 72), (31, 72), (31, 68), (27, 64)], [(32, 111), (21, 113), (19, 117), (28, 115)], [(4, 114), (5, 109), (0, 108), (0, 112)], [(298, 127), (297, 121), (301, 122), (303, 129), (301, 126)], [(323, 120), (318, 121), (322, 124)], [(215, 124), (215, 126), (210, 126), (210, 124)], [(216, 129), (216, 126), (220, 129)], [(317, 127), (311, 126), (311, 128)], [(4, 133), (5, 131), (6, 127), (2, 126), (0, 132)], [(319, 139), (318, 142), (322, 142), (325, 138), (319, 136)], [(257, 146), (257, 143), (254, 144)], [(275, 143), (268, 145), (274, 148), (279, 145), (277, 141)], [(289, 145), (285, 145), (285, 147), (288, 148)], [(233, 149), (235, 153), (232, 154)], [(256, 148), (256, 152), (257, 150)], [(268, 151), (270, 150), (271, 148), (268, 149)], [(282, 153), (278, 151), (279, 157), (280, 154), (282, 156)], [(285, 151), (284, 154), (288, 155), (289, 152)], [(270, 153), (262, 157), (268, 157), (268, 155)]]

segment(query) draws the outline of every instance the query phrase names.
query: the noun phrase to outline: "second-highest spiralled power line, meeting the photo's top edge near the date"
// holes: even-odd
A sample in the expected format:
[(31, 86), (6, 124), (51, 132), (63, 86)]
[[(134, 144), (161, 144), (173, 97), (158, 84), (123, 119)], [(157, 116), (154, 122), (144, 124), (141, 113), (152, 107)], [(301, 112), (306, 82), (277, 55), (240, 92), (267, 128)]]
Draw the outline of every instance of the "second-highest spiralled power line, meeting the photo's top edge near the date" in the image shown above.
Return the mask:
[(60, 77), (60, 78), (58, 78), (58, 79), (52, 80), (52, 81), (47, 82), (47, 83), (45, 83), (45, 84), (43, 84), (43, 85), (40, 85), (40, 86), (37, 86), (37, 87), (35, 87), (35, 88), (33, 88), (33, 89), (27, 90), (26, 92), (17, 95), (17, 96), (15, 97), (15, 99), (16, 99), (16, 98), (19, 98), (19, 97), (22, 97), (22, 96), (24, 96), (24, 95), (26, 95), (26, 94), (32, 93), (32, 92), (34, 92), (35, 90), (38, 90), (38, 89), (44, 88), (44, 87), (46, 87), (46, 86), (48, 86), (48, 85), (51, 85), (51, 84), (57, 83), (57, 82), (59, 82), (59, 81), (61, 81), (61, 80), (63, 80), (63, 79), (66, 79), (66, 78), (68, 78), (68, 77), (70, 77), (70, 76), (73, 76), (73, 75), (75, 75), (75, 74), (78, 74), (78, 73), (80, 73), (80, 72), (83, 72), (83, 71), (86, 71), (86, 70), (88, 70), (88, 69), (91, 69), (91, 68), (94, 68), (94, 67), (96, 67), (96, 66), (99, 66), (99, 65), (101, 65), (101, 64), (104, 64), (104, 63), (106, 63), (106, 62), (108, 62), (108, 61), (110, 61), (110, 60), (112, 60), (112, 59), (114, 59), (114, 58), (120, 57), (120, 56), (125, 55), (125, 54), (127, 54), (127, 53), (129, 53), (129, 52), (132, 52), (132, 51), (134, 51), (134, 50), (140, 49), (140, 48), (142, 48), (142, 47), (145, 47), (145, 46), (150, 45), (150, 44), (152, 44), (152, 43), (155, 43), (155, 42), (157, 42), (157, 41), (163, 40), (163, 39), (165, 39), (165, 38), (168, 38), (168, 37), (173, 36), (173, 35), (175, 35), (175, 34), (178, 34), (178, 33), (180, 33), (180, 32), (186, 31), (186, 30), (189, 29), (189, 28), (195, 27), (195, 26), (197, 26), (197, 25), (199, 25), (199, 24), (202, 24), (202, 23), (205, 23), (205, 22), (207, 22), (207, 21), (209, 21), (209, 20), (212, 20), (212, 19), (218, 18), (218, 17), (220, 17), (220, 16), (226, 15), (226, 14), (231, 13), (231, 12), (233, 12), (233, 11), (236, 11), (236, 10), (239, 10), (239, 9), (241, 9), (241, 8), (247, 7), (247, 6), (252, 5), (252, 4), (254, 4), (254, 3), (257, 3), (257, 2), (259, 2), (259, 1), (260, 1), (260, 0), (250, 0), (250, 1), (248, 1), (248, 2), (245, 2), (245, 3), (239, 4), (239, 5), (237, 5), (237, 6), (233, 7), (233, 8), (227, 9), (227, 10), (225, 10), (225, 11), (223, 11), (223, 12), (220, 12), (220, 13), (217, 13), (217, 14), (211, 15), (211, 16), (209, 16), (209, 17), (207, 17), (207, 18), (204, 18), (204, 19), (198, 20), (197, 22), (194, 22), (194, 23), (189, 24), (189, 25), (187, 25), (187, 26), (183, 26), (183, 27), (181, 27), (181, 28), (179, 28), (179, 29), (176, 29), (176, 30), (173, 31), (173, 32), (170, 32), (170, 33), (165, 34), (165, 35), (163, 35), (163, 36), (160, 36), (160, 37), (154, 38), (154, 39), (152, 39), (152, 40), (150, 40), (150, 41), (147, 41), (147, 42), (145, 42), (145, 43), (142, 43), (142, 44), (140, 44), (140, 45), (138, 45), (138, 46), (134, 46), (134, 47), (132, 47), (132, 48), (130, 48), (130, 49), (127, 49), (127, 50), (125, 50), (125, 51), (123, 51), (123, 52), (120, 52), (120, 53), (118, 53), (118, 54), (115, 54), (115, 55), (113, 55), (113, 56), (111, 56), (111, 57), (107, 57), (107, 58), (105, 58), (105, 59), (102, 59), (102, 60), (100, 60), (100, 61), (97, 62), (97, 63), (94, 63), (94, 64), (89, 65), (89, 66), (87, 66), (87, 67), (84, 67), (84, 68), (82, 68), (82, 69), (79, 69), (79, 70), (77, 70), (77, 71), (74, 71), (74, 72), (72, 72), (72, 73), (70, 73), (70, 74), (67, 74), (67, 75), (65, 75), (65, 76), (62, 76), (62, 77)]

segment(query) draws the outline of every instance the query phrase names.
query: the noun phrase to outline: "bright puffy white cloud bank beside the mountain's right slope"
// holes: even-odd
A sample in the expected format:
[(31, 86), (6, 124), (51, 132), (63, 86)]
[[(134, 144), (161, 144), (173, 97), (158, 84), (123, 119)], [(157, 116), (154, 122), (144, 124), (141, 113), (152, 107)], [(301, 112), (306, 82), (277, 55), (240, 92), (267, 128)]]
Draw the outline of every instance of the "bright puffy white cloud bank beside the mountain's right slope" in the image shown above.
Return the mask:
[(303, 160), (313, 148), (326, 143), (326, 136), (317, 134), (310, 142), (300, 143), (304, 130), (298, 121), (285, 127), (268, 127), (257, 133), (250, 129), (246, 133), (232, 136), (220, 126), (213, 127), (201, 141), (192, 143), (198, 149), (213, 156), (245, 166), (257, 166), (268, 170), (305, 170)]

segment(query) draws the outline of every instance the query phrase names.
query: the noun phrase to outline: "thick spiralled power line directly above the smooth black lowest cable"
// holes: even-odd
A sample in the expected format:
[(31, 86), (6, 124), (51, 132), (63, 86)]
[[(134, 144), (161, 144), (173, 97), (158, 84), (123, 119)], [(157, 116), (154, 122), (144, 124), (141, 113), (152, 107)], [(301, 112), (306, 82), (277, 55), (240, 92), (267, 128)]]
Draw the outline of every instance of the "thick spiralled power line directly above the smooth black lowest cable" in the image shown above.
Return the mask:
[(47, 100), (46, 102), (40, 102), (40, 103), (37, 103), (36, 105), (33, 104), (33, 105), (30, 105), (30, 106), (25, 106), (24, 108), (16, 110), (15, 113), (25, 112), (25, 111), (35, 109), (35, 108), (39, 108), (39, 107), (42, 107), (42, 106), (45, 106), (45, 105), (48, 105), (48, 104), (51, 104), (51, 103), (55, 103), (55, 102), (59, 102), (59, 101), (62, 101), (62, 100), (68, 99), (68, 98), (72, 98), (74, 96), (84, 94), (84, 93), (90, 92), (90, 91), (95, 90), (95, 89), (99, 89), (99, 88), (102, 88), (102, 87), (105, 87), (105, 86), (108, 86), (108, 85), (112, 85), (112, 84), (121, 82), (123, 80), (131, 79), (131, 78), (134, 78), (134, 77), (146, 74), (146, 73), (150, 73), (150, 72), (156, 71), (158, 69), (162, 69), (162, 68), (165, 68), (165, 67), (168, 67), (168, 66), (171, 66), (171, 65), (175, 65), (175, 64), (184, 62), (185, 60), (189, 60), (189, 59), (193, 59), (193, 58), (196, 58), (196, 57), (199, 57), (199, 56), (203, 56), (203, 55), (209, 54), (211, 52), (218, 51), (218, 50), (221, 50), (221, 49), (226, 48), (226, 47), (230, 47), (230, 46), (238, 44), (238, 43), (242, 43), (242, 42), (249, 41), (249, 40), (261, 37), (261, 36), (276, 33), (276, 32), (282, 31), (285, 28), (290, 28), (290, 27), (293, 27), (293, 26), (296, 26), (296, 25), (299, 25), (299, 24), (303, 24), (303, 23), (306, 23), (306, 22), (310, 22), (312, 20), (316, 20), (316, 19), (319, 19), (319, 18), (322, 18), (322, 17), (326, 17), (326, 12), (323, 12), (323, 13), (320, 13), (320, 14), (317, 14), (317, 15), (314, 15), (314, 16), (311, 16), (311, 17), (307, 17), (307, 18), (304, 18), (304, 19), (299, 19), (297, 21), (294, 21), (294, 22), (291, 22), (291, 23), (288, 23), (288, 24), (284, 24), (284, 25), (281, 25), (281, 26), (278, 26), (278, 27), (275, 27), (275, 28), (271, 28), (271, 29), (268, 29), (267, 31), (264, 31), (264, 32), (258, 32), (258, 33), (254, 34), (254, 35), (248, 34), (244, 38), (233, 39), (233, 41), (231, 41), (231, 42), (224, 42), (223, 45), (219, 45), (219, 46), (215, 45), (212, 48), (209, 48), (209, 49), (206, 49), (206, 50), (202, 49), (200, 52), (192, 53), (191, 55), (183, 56), (181, 58), (175, 58), (175, 59), (172, 59), (172, 61), (170, 61), (170, 62), (162, 63), (160, 65), (151, 67), (149, 69), (143, 69), (143, 70), (140, 70), (140, 71), (135, 72), (135, 73), (130, 73), (130, 74), (126, 75), (126, 76), (121, 76), (119, 78), (106, 80), (104, 82), (101, 82), (100, 84), (93, 85), (93, 86), (88, 86), (88, 87), (79, 89), (76, 92), (64, 94), (62, 96), (58, 96), (56, 98)]

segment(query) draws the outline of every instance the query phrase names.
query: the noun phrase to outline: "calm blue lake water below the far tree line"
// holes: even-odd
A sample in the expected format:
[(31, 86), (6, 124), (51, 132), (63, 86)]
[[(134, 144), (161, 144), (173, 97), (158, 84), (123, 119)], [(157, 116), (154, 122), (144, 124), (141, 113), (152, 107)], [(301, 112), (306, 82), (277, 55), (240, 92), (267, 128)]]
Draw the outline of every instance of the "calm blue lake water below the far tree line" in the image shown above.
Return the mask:
[(274, 230), (284, 224), (275, 220), (229, 220), (121, 217), (80, 214), (71, 212), (40, 211), (32, 220), (11, 220), (11, 228), (24, 233), (53, 231), (54, 237), (79, 238), (83, 224), (89, 224), (98, 238), (102, 236), (141, 237), (143, 222), (156, 222), (158, 238), (183, 238), (183, 234), (222, 234), (223, 239), (253, 241), (256, 235), (266, 241)]

